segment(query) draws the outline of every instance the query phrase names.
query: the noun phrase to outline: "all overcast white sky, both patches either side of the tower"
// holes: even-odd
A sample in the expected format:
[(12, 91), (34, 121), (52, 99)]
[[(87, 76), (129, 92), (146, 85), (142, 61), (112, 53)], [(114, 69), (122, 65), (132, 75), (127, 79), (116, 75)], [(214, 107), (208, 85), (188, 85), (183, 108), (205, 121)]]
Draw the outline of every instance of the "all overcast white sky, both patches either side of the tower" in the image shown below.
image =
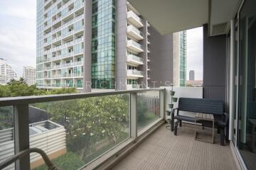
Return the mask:
[[(0, 57), (22, 76), (23, 66), (36, 67), (36, 0), (0, 0)], [(203, 30), (187, 30), (189, 70), (203, 79)]]

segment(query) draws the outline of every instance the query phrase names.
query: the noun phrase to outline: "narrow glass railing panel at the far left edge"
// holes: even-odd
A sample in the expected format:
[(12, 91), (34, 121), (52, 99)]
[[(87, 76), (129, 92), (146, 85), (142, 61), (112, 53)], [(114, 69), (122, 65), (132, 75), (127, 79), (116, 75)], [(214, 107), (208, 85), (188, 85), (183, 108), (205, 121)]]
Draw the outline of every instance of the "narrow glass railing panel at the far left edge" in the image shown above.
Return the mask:
[[(0, 162), (14, 155), (14, 107), (0, 107)], [(11, 164), (6, 169), (14, 169)]]

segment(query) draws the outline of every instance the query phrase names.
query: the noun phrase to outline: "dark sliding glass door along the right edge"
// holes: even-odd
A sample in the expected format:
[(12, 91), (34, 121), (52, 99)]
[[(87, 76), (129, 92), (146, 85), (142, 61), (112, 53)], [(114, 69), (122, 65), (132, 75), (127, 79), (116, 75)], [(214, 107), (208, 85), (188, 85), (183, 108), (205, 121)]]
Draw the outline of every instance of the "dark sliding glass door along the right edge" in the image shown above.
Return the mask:
[(238, 148), (247, 169), (256, 167), (256, 1), (247, 0), (240, 11), (240, 96)]

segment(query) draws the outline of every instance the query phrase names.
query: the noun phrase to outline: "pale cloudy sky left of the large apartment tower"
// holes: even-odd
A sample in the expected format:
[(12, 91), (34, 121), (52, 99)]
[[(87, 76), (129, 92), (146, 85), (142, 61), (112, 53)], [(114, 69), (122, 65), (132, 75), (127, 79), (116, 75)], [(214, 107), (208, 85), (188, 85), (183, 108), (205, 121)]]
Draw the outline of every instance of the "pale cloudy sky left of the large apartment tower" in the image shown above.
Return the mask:
[(36, 67), (36, 0), (0, 0), (0, 26), (0, 58), (22, 76)]

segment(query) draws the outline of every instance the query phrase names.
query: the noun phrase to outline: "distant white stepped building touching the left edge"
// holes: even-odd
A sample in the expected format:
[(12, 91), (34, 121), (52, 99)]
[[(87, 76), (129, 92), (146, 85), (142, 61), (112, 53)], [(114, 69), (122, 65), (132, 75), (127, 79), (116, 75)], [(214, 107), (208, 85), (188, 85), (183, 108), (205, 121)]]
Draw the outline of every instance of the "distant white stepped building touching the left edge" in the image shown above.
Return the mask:
[(7, 84), (11, 79), (18, 79), (16, 71), (0, 58), (0, 84)]

